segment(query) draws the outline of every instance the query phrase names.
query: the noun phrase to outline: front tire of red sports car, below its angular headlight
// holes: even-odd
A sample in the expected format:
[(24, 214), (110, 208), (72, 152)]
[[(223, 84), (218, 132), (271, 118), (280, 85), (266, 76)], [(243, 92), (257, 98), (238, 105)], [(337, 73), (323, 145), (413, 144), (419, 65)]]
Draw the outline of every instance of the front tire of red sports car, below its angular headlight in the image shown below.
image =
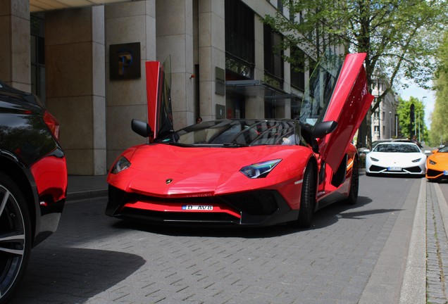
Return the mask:
[(316, 179), (313, 165), (306, 166), (301, 185), (300, 210), (297, 226), (308, 228), (313, 222), (314, 207), (316, 206)]

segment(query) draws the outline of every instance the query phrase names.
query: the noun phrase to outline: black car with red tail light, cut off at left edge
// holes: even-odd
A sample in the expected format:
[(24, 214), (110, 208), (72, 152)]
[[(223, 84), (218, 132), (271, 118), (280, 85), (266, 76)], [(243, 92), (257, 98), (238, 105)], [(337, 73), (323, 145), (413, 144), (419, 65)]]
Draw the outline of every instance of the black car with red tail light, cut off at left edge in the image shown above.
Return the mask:
[(67, 191), (58, 136), (36, 96), (0, 82), (0, 303), (22, 279), (31, 248), (58, 226)]

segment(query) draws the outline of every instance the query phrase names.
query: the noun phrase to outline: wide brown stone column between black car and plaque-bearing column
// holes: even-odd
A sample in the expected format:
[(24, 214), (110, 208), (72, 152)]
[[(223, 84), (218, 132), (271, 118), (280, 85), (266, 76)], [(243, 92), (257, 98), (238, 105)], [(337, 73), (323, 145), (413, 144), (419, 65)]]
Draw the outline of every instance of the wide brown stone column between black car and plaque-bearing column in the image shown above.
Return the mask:
[(45, 39), (46, 104), (61, 123), (68, 174), (105, 175), (104, 6), (46, 13)]

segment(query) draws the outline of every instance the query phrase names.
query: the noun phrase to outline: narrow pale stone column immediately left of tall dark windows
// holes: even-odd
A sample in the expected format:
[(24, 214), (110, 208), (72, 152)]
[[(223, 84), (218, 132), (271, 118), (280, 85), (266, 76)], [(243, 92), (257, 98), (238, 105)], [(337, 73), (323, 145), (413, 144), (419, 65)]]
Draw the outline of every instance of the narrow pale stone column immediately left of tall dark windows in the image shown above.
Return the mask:
[(203, 120), (216, 118), (225, 96), (215, 93), (215, 67), (225, 70), (225, 1), (199, 0), (199, 96)]

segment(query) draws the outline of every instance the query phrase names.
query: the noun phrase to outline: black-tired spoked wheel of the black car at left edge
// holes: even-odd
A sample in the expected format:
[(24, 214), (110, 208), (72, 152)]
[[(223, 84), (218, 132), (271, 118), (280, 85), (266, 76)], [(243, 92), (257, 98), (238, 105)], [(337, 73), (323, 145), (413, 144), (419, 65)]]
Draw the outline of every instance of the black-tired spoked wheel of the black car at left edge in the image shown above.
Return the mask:
[(0, 303), (11, 298), (25, 273), (31, 250), (31, 224), (18, 186), (0, 173)]

